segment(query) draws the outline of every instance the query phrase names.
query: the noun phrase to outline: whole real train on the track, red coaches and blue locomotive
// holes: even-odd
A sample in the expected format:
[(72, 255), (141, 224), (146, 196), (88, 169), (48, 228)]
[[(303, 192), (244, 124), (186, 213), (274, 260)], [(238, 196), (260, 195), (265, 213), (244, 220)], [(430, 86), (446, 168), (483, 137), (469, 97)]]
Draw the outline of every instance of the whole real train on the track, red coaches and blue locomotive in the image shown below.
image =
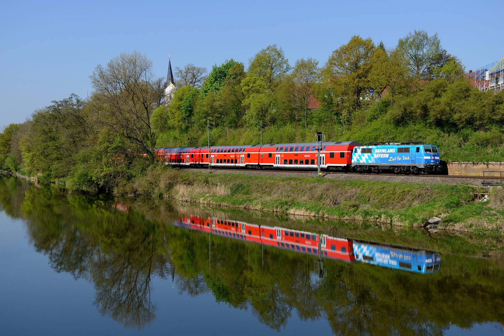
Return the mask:
[[(320, 149), (320, 156), (318, 150)], [(429, 174), (441, 171), (437, 146), (357, 141), (160, 148), (157, 159), (174, 167), (317, 170)]]

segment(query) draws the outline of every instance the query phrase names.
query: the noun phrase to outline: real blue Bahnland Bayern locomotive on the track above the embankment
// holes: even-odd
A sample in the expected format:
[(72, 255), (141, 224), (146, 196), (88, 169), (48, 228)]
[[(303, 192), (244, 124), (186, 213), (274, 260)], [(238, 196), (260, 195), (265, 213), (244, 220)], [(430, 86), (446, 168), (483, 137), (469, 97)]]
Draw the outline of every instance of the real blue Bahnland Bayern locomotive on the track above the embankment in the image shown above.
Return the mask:
[(356, 172), (394, 173), (440, 172), (439, 151), (434, 145), (405, 143), (356, 146), (352, 151), (352, 169)]

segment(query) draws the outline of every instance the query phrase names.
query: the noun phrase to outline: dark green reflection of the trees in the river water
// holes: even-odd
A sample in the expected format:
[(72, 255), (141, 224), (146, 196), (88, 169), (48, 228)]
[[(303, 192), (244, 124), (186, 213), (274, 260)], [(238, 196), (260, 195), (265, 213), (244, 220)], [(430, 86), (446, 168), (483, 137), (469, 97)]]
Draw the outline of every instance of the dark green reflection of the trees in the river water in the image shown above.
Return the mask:
[(327, 319), (338, 335), (438, 335), (451, 323), (504, 320), (498, 255), (447, 254), (442, 271), (428, 275), (331, 259), (322, 267), (308, 253), (172, 226), (181, 216), (165, 201), (138, 200), (133, 210), (114, 204), (0, 178), (2, 210), (25, 220), (31, 243), (56, 272), (92, 283), (99, 312), (126, 328), (156, 318), (152, 277), (250, 309), (274, 330), (293, 310), (301, 320)]

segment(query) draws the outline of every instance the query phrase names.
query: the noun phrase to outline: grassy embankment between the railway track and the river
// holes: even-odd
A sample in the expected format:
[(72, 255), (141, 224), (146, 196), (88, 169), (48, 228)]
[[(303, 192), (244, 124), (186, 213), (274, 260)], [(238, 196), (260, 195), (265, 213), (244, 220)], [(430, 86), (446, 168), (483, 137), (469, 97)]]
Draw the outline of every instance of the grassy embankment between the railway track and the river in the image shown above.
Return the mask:
[(428, 185), (186, 173), (159, 167), (120, 185), (118, 194), (163, 195), (182, 201), (329, 219), (424, 226), (443, 215), (439, 228), (477, 233), (502, 230), (502, 188), (475, 203), (464, 185)]

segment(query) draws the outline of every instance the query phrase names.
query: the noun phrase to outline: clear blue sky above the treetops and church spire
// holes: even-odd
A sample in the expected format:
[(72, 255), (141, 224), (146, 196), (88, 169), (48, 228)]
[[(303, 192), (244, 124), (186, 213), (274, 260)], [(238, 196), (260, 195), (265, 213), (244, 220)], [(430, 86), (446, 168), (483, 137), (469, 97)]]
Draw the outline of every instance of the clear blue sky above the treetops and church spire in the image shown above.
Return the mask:
[[(354, 34), (395, 46), (415, 29), (438, 33), (467, 71), (504, 57), (504, 2), (249, 1), (249, 2), (3, 2), (0, 127), (23, 122), (36, 108), (91, 92), (89, 76), (120, 52), (138, 50), (166, 76), (172, 66), (209, 70), (276, 43), (291, 64), (322, 65)], [(493, 27), (492, 27), (493, 26)]]

